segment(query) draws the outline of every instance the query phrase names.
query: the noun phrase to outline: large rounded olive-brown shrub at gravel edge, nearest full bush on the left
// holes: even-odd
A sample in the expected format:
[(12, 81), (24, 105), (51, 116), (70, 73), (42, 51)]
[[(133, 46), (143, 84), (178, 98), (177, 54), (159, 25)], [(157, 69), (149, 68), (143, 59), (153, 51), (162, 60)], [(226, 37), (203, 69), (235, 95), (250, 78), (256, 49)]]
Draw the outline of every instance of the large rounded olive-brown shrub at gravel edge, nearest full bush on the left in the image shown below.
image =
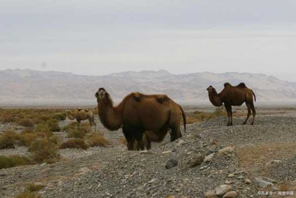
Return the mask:
[(28, 148), (32, 158), (38, 163), (54, 163), (59, 157), (57, 146), (47, 139), (37, 139)]

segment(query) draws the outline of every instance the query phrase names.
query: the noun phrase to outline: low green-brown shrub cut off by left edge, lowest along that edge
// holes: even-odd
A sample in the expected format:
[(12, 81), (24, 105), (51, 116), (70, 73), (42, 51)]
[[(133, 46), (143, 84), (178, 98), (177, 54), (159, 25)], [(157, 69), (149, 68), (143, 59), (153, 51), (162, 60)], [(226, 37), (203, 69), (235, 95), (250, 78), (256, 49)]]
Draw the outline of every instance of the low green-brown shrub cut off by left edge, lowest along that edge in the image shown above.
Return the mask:
[(33, 164), (29, 157), (21, 155), (0, 155), (0, 169)]

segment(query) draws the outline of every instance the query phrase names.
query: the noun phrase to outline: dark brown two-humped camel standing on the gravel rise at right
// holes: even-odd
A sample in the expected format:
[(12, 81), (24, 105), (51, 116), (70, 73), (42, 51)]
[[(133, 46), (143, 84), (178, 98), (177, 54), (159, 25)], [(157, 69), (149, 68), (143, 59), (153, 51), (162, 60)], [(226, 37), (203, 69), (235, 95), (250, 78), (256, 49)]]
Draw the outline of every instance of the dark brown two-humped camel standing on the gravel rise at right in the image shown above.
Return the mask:
[(230, 83), (225, 83), (224, 89), (219, 94), (217, 94), (216, 90), (212, 86), (210, 86), (207, 91), (209, 94), (209, 99), (214, 106), (222, 106), (222, 103), (224, 103), (228, 117), (227, 126), (232, 125), (232, 106), (240, 106), (244, 102), (246, 102), (248, 107), (248, 115), (246, 121), (243, 124), (247, 123), (251, 115), (251, 109), (253, 112), (253, 120), (251, 125), (254, 124), (256, 110), (254, 107), (253, 96), (255, 101), (256, 96), (253, 90), (246, 87), (245, 83), (240, 83), (237, 86), (232, 86)]

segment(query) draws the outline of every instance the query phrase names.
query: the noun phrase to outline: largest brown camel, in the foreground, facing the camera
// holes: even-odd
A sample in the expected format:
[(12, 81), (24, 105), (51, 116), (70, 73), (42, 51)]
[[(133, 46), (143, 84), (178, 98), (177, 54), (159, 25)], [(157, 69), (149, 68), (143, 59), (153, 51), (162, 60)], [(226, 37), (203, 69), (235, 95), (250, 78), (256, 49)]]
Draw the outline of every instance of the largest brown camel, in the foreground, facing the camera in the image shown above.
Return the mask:
[[(144, 149), (142, 136), (145, 131), (154, 131), (161, 136), (171, 129), (171, 141), (182, 137), (180, 121), (182, 116), (186, 119), (185, 114), (180, 105), (169, 97), (161, 103), (150, 95), (131, 93), (117, 106), (113, 106), (113, 101), (104, 88), (100, 88), (95, 97), (101, 123), (112, 131), (122, 127), (128, 150), (133, 149), (135, 140), (139, 148)], [(185, 123), (186, 121), (184, 126)]]

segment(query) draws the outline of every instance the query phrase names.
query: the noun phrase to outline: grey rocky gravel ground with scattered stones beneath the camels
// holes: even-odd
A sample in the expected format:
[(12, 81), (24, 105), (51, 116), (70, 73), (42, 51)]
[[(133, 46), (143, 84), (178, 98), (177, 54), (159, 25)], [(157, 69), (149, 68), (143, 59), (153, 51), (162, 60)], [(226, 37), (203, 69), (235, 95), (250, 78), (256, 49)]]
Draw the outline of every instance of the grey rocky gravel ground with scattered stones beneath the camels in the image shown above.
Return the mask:
[[(296, 197), (296, 111), (270, 112), (258, 115), (254, 126), (241, 125), (243, 117), (230, 127), (224, 117), (191, 124), (181, 139), (170, 143), (167, 136), (142, 152), (127, 151), (121, 130), (109, 132), (97, 120), (110, 147), (62, 149), (62, 161), (54, 164), (1, 169), (0, 192), (11, 198), (40, 182), (43, 198), (255, 198), (263, 190)], [(27, 148), (0, 150), (16, 153)]]

